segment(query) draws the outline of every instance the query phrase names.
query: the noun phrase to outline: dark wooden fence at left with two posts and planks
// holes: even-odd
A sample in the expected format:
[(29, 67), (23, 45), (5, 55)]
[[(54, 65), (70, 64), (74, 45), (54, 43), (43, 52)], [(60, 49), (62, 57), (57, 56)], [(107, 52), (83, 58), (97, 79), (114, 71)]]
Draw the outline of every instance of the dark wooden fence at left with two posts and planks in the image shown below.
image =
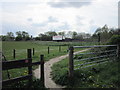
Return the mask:
[(42, 86), (44, 86), (44, 55), (40, 55), (39, 62), (32, 63), (32, 51), (31, 51), (31, 49), (27, 50), (27, 59), (16, 60), (16, 61), (3, 61), (2, 62), (2, 70), (28, 67), (28, 75), (3, 80), (0, 82), (2, 82), (3, 86), (6, 86), (10, 83), (14, 83), (14, 82), (18, 82), (18, 81), (27, 79), (27, 80), (29, 80), (29, 87), (30, 87), (32, 84), (32, 76), (33, 76), (32, 66), (33, 65), (41, 65), (41, 82), (42, 82)]

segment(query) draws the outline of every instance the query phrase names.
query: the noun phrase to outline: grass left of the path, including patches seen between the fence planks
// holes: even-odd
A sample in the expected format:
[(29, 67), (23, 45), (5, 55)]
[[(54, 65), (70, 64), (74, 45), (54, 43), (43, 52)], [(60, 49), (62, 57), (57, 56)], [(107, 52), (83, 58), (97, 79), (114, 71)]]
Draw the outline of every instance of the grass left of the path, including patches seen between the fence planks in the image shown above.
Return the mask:
[[(51, 41), (5, 41), (2, 42), (2, 52), (6, 56), (7, 60), (13, 59), (13, 49), (16, 49), (16, 59), (25, 59), (27, 58), (27, 49), (35, 48), (35, 55), (32, 56), (33, 62), (39, 61), (40, 54), (44, 54), (45, 61), (48, 61), (51, 58), (67, 54), (67, 45), (94, 45), (97, 43), (93, 42), (51, 42)], [(58, 46), (51, 45), (66, 45), (61, 46), (61, 52), (59, 52)], [(50, 47), (50, 54), (48, 54), (48, 46)], [(77, 51), (77, 50), (76, 50)], [(33, 67), (35, 69), (36, 67)], [(3, 71), (3, 79), (8, 79), (7, 71)], [(14, 78), (17, 76), (27, 75), (27, 68), (21, 69), (12, 69), (9, 70), (10, 77)]]

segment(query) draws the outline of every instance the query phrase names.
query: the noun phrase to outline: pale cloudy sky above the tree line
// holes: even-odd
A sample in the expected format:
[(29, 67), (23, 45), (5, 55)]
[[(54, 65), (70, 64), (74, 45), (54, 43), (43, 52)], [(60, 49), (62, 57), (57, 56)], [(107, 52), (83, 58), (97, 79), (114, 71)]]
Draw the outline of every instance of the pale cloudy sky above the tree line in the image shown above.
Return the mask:
[(47, 31), (93, 34), (105, 24), (118, 27), (119, 0), (1, 0), (0, 34)]

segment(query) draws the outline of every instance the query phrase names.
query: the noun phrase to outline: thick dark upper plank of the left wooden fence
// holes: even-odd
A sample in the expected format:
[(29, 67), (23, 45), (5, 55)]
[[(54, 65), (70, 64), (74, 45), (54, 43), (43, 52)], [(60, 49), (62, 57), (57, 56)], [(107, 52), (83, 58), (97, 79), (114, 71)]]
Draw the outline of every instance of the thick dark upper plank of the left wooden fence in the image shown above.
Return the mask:
[(30, 59), (16, 60), (16, 61), (3, 61), (2, 62), (2, 70), (14, 69), (14, 68), (22, 68), (28, 67), (28, 61)]

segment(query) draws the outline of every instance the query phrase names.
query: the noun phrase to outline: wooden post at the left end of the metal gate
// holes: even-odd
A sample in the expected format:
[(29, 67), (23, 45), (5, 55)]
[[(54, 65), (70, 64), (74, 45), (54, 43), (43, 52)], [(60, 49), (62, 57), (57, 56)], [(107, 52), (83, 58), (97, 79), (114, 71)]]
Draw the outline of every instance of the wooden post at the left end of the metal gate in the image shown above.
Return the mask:
[(72, 79), (73, 77), (73, 70), (74, 70), (74, 63), (73, 63), (73, 47), (69, 47), (69, 77)]

